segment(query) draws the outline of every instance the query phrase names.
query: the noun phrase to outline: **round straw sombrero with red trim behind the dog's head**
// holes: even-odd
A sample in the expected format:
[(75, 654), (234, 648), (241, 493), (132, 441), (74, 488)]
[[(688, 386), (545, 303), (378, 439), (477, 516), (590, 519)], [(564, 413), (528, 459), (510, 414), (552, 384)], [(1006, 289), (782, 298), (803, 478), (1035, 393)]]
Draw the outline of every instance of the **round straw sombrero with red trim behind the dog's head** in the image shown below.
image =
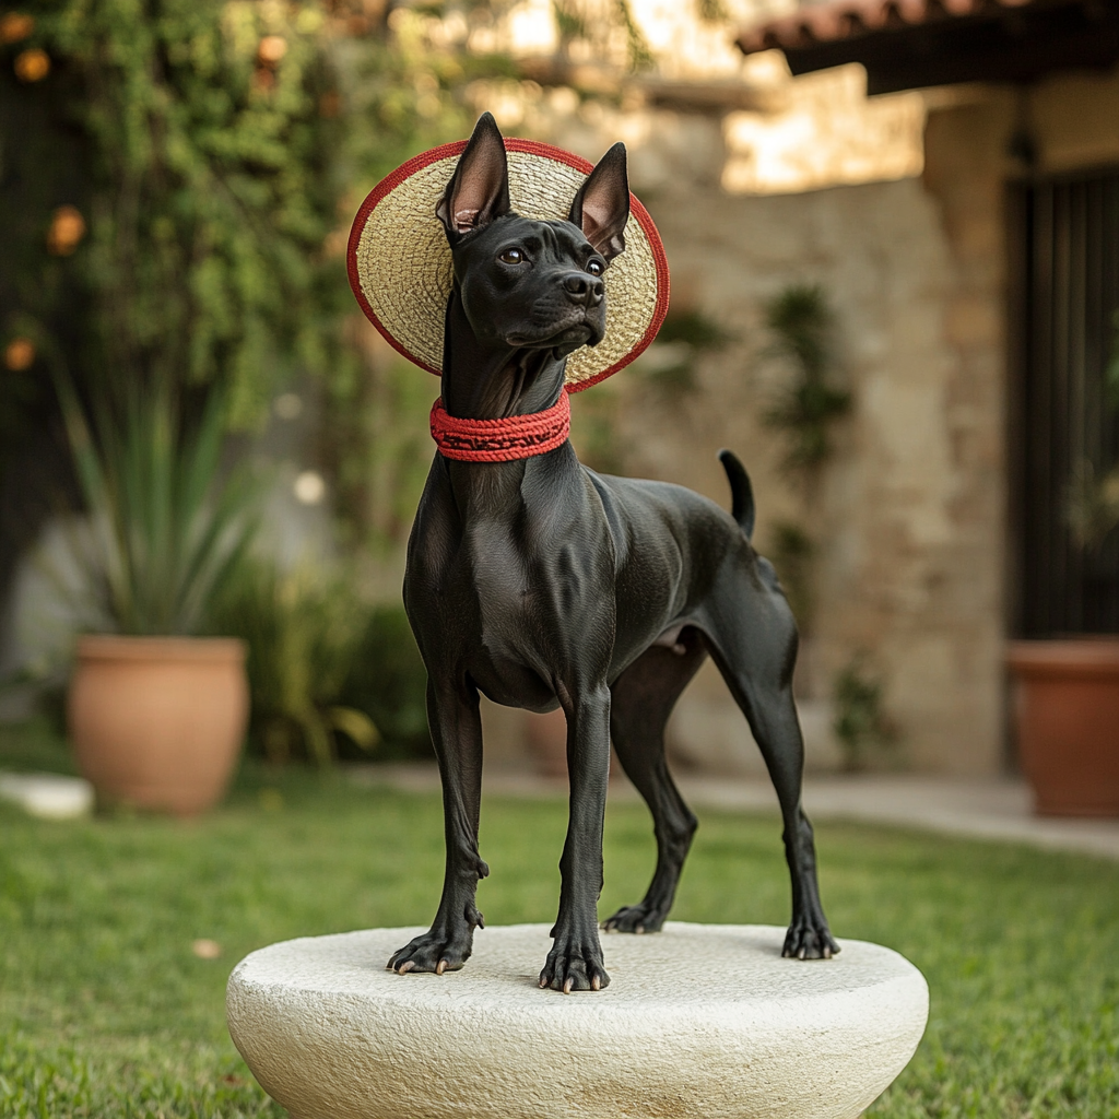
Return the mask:
[[(410, 159), (369, 192), (354, 219), (347, 266), (361, 310), (389, 345), (421, 369), (443, 364), (443, 318), (451, 294), (451, 250), (435, 206), (466, 140)], [(506, 139), (516, 213), (567, 217), (592, 164), (533, 140)], [(668, 262), (648, 210), (630, 195), (626, 251), (606, 269), (606, 332), (567, 358), (568, 392), (629, 365), (656, 337), (668, 310)]]

